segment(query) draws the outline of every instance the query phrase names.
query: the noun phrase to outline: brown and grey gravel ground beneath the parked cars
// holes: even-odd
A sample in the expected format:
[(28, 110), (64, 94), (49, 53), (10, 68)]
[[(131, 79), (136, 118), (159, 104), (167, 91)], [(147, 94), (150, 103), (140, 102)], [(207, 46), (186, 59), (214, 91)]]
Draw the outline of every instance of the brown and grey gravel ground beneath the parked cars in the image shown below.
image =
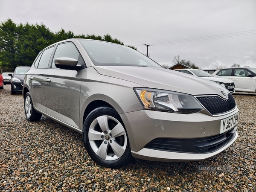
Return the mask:
[(234, 95), (239, 137), (221, 154), (198, 162), (134, 160), (107, 169), (90, 159), (81, 134), (45, 116), (28, 122), (22, 95), (10, 93), (10, 85), (0, 90), (2, 192), (256, 191), (256, 94)]

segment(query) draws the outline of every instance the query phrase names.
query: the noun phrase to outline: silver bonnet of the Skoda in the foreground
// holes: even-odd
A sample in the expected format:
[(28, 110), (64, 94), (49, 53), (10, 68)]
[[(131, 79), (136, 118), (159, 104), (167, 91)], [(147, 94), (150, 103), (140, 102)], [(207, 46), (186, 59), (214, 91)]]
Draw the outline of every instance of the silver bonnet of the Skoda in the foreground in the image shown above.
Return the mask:
[(94, 68), (101, 75), (131, 81), (149, 88), (191, 95), (219, 95), (223, 98), (227, 96), (224, 96), (219, 88), (228, 92), (224, 87), (204, 78), (163, 68), (131, 66), (94, 66)]

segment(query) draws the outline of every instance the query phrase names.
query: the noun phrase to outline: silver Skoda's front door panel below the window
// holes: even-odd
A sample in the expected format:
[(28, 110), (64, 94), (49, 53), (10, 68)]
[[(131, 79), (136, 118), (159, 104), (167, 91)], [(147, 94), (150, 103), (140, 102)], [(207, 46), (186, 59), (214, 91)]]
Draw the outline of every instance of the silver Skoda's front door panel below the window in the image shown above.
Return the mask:
[(45, 74), (47, 114), (78, 128), (81, 78), (76, 70), (49, 69)]

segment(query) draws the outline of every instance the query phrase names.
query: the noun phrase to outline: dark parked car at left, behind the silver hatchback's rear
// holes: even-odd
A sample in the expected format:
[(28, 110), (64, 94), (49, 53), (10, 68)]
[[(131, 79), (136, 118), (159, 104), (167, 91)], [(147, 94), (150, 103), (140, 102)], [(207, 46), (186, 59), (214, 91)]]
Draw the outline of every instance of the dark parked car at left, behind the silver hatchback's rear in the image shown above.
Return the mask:
[(23, 82), (25, 73), (29, 70), (30, 67), (16, 67), (14, 73), (10, 73), (11, 76), (11, 94), (17, 92), (22, 92)]

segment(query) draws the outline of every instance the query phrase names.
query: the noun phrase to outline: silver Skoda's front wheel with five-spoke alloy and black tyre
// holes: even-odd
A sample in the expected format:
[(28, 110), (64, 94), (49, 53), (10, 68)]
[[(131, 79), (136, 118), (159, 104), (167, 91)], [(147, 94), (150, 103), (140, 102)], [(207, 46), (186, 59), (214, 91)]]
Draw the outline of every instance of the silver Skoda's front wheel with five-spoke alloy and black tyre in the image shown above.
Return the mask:
[(96, 108), (87, 116), (83, 141), (87, 153), (101, 166), (116, 169), (133, 159), (125, 126), (113, 108)]

